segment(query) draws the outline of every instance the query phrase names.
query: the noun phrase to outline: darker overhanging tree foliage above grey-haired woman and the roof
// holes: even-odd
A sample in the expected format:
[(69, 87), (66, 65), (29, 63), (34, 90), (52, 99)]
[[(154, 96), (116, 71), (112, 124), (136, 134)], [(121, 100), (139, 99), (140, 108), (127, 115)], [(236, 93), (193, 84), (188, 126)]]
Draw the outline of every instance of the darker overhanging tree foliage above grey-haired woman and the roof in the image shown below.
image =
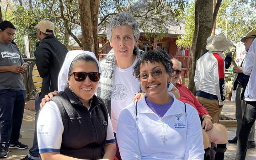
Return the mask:
[(179, 25), (179, 15), (187, 4), (188, 0), (101, 0), (99, 27), (107, 26), (109, 15), (126, 11), (137, 19), (146, 37), (161, 39), (170, 26)]

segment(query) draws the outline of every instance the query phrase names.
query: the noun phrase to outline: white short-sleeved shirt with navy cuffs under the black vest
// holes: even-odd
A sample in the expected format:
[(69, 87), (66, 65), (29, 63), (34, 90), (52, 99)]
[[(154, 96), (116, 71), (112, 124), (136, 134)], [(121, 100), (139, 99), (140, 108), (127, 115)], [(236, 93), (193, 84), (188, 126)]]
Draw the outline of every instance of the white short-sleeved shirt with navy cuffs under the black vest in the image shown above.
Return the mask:
[[(63, 131), (64, 126), (58, 106), (53, 101), (47, 102), (41, 109), (37, 120), (37, 141), (39, 153), (60, 152)], [(108, 117), (106, 143), (113, 142), (115, 142), (115, 137), (111, 120)]]

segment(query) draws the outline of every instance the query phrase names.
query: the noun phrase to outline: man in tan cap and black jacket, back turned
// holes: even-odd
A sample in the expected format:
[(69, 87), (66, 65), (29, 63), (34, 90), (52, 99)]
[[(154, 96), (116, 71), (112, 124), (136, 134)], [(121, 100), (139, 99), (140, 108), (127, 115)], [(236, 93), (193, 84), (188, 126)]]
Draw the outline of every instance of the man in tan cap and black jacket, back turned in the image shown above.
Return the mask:
[[(35, 26), (35, 29), (38, 29), (37, 37), (40, 41), (36, 43), (37, 49), (34, 55), (39, 75), (43, 78), (41, 94), (37, 94), (35, 101), (35, 124), (37, 124), (41, 99), (49, 92), (58, 90), (58, 75), (68, 50), (64, 44), (54, 37), (52, 22), (41, 20)], [(35, 127), (33, 146), (29, 149), (29, 154), (22, 160), (40, 160), (36, 128), (37, 126)]]

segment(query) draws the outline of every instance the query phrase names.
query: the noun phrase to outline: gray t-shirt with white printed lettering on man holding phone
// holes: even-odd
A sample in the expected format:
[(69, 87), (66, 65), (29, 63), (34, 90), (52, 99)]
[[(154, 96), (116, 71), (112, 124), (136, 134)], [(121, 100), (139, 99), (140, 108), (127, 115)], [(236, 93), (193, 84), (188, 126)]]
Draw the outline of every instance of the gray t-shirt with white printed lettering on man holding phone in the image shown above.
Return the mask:
[[(21, 66), (23, 63), (21, 52), (16, 45), (0, 42), (0, 66)], [(0, 89), (25, 90), (22, 75), (13, 72), (0, 72)]]

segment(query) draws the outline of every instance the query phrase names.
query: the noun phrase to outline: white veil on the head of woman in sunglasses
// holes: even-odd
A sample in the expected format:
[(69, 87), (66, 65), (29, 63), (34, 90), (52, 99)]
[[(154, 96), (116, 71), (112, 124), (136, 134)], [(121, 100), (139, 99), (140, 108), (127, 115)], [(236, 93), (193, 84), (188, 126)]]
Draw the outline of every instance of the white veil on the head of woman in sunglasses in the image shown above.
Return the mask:
[(65, 85), (68, 83), (69, 79), (69, 68), (73, 60), (79, 56), (80, 54), (87, 54), (93, 57), (99, 67), (99, 72), (101, 73), (101, 66), (99, 64), (98, 59), (96, 58), (95, 54), (89, 51), (82, 51), (82, 50), (75, 50), (75, 51), (69, 51), (66, 55), (66, 58), (64, 60), (64, 63), (59, 71), (59, 76), (58, 76), (58, 90), (59, 91), (64, 91)]

